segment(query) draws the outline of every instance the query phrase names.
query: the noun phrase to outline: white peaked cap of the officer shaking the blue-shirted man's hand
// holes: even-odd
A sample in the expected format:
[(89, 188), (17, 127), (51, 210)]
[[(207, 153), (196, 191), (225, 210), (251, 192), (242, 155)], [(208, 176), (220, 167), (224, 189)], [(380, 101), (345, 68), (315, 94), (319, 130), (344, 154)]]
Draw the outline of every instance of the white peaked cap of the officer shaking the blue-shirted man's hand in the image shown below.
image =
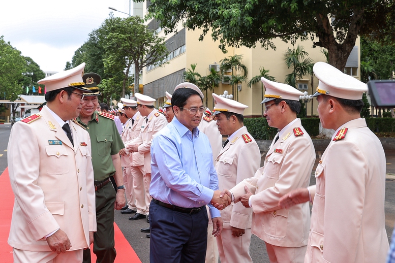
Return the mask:
[(297, 90), (296, 88), (279, 82), (270, 81), (261, 78), (263, 85), (265, 85), (265, 95), (264, 100), (261, 104), (276, 100), (276, 98), (281, 98), (283, 100), (299, 101), (300, 95), (305, 95), (303, 92)]

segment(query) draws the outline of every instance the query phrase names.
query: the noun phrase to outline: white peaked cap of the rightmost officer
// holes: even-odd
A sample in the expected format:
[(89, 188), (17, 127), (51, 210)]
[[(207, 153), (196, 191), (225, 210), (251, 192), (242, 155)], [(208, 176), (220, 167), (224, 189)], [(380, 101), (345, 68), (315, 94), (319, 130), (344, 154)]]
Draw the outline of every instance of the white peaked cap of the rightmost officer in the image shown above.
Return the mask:
[(328, 63), (315, 63), (313, 71), (319, 79), (317, 92), (313, 94), (313, 97), (325, 94), (355, 101), (361, 100), (363, 92), (368, 91), (367, 84), (344, 74)]

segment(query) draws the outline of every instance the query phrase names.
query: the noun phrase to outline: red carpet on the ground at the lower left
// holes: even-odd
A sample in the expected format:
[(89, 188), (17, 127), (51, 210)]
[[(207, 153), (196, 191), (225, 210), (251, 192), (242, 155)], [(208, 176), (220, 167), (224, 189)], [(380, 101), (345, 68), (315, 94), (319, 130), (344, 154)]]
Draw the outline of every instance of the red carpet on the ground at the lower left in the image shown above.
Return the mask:
[[(11, 189), (10, 178), (8, 176), (8, 168), (0, 176), (0, 200), (2, 207), (0, 209), (0, 262), (12, 263), (12, 247), (8, 245), (7, 239), (10, 233), (12, 208), (14, 207), (14, 194)], [(114, 223), (115, 228), (115, 263), (120, 262), (140, 262), (137, 254), (126, 240), (124, 234)], [(92, 251), (92, 250), (90, 250)], [(92, 262), (96, 262), (96, 256), (92, 252)]]

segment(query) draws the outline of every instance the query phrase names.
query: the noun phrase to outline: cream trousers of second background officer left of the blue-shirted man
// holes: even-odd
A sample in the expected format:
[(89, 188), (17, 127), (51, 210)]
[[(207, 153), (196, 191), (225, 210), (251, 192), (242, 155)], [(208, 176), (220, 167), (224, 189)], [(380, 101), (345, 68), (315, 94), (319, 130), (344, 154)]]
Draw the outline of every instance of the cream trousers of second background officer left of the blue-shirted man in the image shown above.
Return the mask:
[(134, 190), (134, 198), (136, 200), (137, 213), (146, 215), (147, 205), (145, 203), (145, 186), (144, 186), (144, 176), (143, 176), (144, 166), (131, 166), (130, 172), (132, 173), (133, 176), (133, 190)]

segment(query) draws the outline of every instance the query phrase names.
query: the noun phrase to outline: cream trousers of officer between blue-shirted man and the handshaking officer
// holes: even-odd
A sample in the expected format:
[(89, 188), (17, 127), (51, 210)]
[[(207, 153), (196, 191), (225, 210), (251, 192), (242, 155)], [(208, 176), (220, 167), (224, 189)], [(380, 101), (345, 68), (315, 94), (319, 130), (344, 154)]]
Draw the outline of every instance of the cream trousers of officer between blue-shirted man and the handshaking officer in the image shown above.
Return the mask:
[(217, 237), (218, 252), (221, 263), (252, 263), (250, 256), (251, 228), (246, 229), (241, 237), (232, 236), (232, 229), (222, 229)]

